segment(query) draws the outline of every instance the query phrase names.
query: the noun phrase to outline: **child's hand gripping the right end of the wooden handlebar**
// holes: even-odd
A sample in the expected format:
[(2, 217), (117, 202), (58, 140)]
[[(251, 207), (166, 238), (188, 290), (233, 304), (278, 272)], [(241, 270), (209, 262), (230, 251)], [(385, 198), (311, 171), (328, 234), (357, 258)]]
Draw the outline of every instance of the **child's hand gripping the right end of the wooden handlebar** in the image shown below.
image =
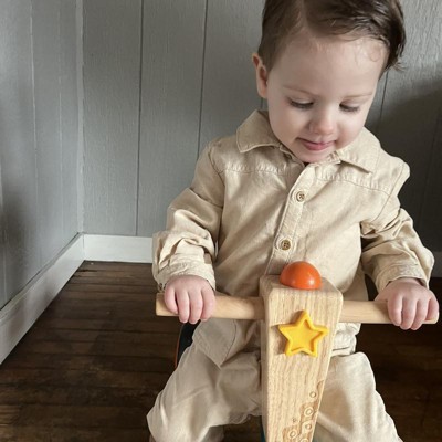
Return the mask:
[(392, 281), (379, 293), (376, 301), (387, 302), (391, 322), (403, 330), (417, 330), (425, 319), (433, 319), (439, 313), (434, 293), (414, 278)]

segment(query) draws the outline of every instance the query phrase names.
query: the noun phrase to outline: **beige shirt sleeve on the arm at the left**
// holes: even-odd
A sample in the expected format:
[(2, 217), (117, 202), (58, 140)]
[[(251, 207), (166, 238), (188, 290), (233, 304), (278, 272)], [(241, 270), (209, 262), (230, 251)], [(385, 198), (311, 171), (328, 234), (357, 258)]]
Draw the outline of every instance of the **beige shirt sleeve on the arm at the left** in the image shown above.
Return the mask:
[(190, 188), (168, 208), (166, 230), (154, 235), (154, 277), (165, 285), (171, 276), (197, 275), (215, 288), (212, 262), (223, 206), (224, 183), (210, 158), (197, 162)]

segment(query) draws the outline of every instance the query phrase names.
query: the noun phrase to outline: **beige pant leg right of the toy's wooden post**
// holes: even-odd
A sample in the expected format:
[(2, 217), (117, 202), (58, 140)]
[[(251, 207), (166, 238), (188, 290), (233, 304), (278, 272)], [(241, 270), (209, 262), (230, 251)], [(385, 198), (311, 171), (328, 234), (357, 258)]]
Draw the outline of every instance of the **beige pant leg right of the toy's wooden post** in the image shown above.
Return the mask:
[(394, 422), (376, 391), (370, 362), (361, 352), (330, 360), (320, 402), (318, 442), (398, 442)]

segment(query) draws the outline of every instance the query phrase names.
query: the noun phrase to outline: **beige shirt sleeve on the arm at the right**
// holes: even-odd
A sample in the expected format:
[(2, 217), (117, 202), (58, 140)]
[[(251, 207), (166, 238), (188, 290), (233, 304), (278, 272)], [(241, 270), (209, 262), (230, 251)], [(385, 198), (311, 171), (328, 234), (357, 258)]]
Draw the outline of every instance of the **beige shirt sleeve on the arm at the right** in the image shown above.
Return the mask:
[(381, 212), (361, 224), (365, 272), (381, 291), (399, 277), (414, 277), (428, 285), (434, 259), (422, 245), (410, 215), (400, 208), (398, 193), (409, 177), (409, 167), (402, 162)]

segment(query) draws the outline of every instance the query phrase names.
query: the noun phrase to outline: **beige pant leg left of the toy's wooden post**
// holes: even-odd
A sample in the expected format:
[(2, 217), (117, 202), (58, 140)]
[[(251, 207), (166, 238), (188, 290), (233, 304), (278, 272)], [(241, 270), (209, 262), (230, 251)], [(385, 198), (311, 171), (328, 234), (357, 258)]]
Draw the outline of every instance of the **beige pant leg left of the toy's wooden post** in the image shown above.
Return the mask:
[(242, 352), (219, 367), (192, 345), (147, 415), (156, 442), (218, 442), (222, 427), (261, 412), (259, 352)]

